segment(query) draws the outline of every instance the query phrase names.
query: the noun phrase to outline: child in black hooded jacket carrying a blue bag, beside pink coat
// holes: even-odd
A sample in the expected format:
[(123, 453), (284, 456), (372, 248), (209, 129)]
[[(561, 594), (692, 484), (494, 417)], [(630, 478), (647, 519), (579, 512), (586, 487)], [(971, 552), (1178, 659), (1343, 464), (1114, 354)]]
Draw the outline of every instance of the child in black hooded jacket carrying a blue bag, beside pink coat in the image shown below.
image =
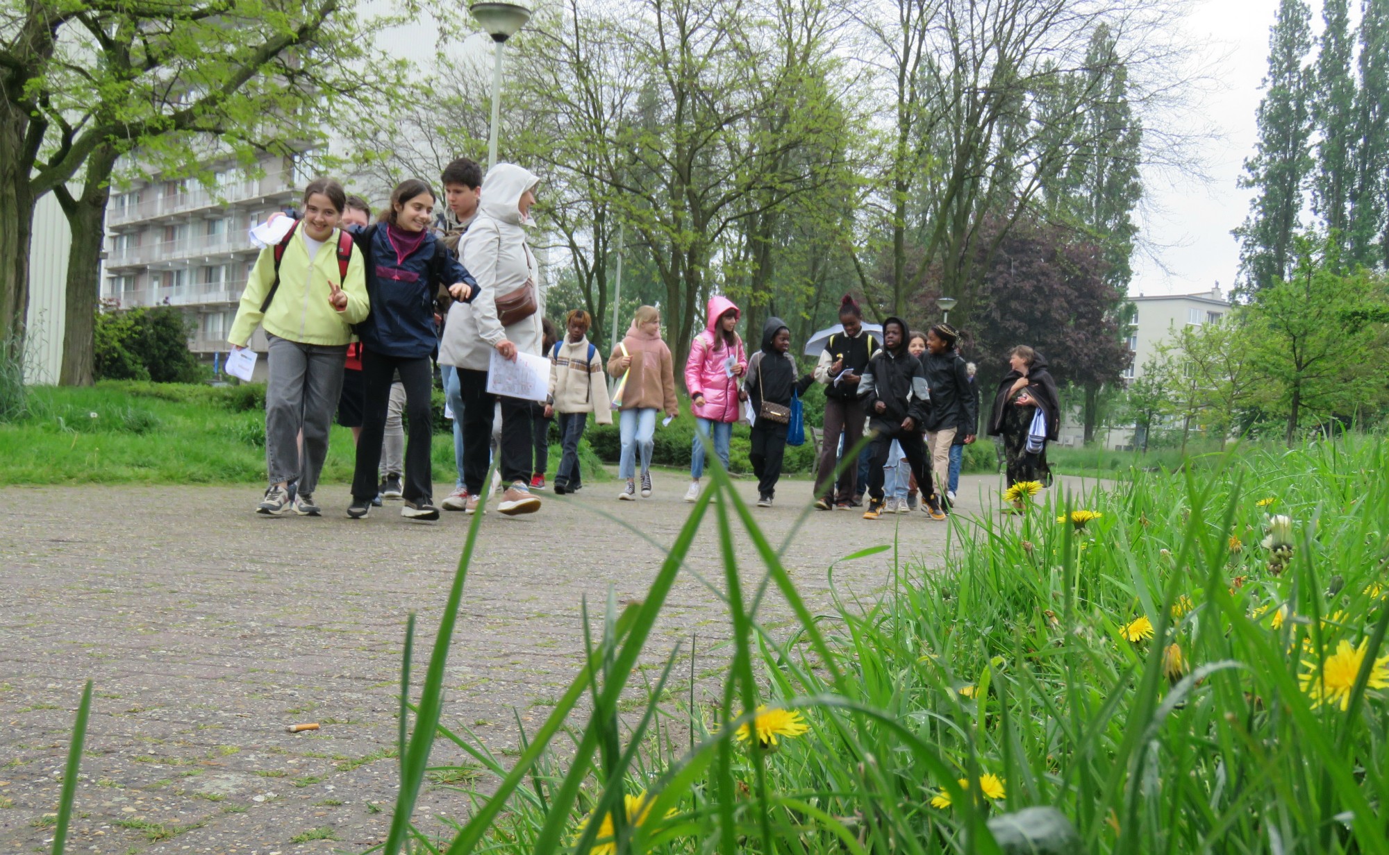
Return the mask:
[[(806, 394), (815, 375), (796, 379), (796, 358), (790, 355), (790, 329), (781, 318), (768, 318), (763, 326), (763, 348), (747, 361), (743, 391), (754, 414), (763, 401), (790, 407), (792, 393)], [(786, 422), (757, 418), (753, 422), (753, 447), (747, 459), (757, 476), (757, 507), (772, 507), (776, 482), (781, 479), (782, 457), (786, 454)]]

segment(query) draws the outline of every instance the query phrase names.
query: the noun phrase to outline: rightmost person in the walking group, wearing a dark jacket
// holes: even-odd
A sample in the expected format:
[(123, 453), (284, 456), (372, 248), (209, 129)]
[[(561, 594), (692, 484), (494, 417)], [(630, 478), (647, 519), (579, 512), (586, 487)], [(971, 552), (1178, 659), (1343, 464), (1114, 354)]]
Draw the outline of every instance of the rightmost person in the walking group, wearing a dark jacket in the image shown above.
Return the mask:
[(1047, 371), (1046, 357), (1026, 344), (1008, 353), (1008, 369), (993, 396), (989, 436), (1003, 437), (1010, 487), (1018, 482), (1050, 482), (1046, 443), (1038, 454), (1028, 452), (1026, 444), (1038, 408), (1046, 416), (1046, 440), (1056, 441), (1061, 427), (1061, 398), (1056, 380)]

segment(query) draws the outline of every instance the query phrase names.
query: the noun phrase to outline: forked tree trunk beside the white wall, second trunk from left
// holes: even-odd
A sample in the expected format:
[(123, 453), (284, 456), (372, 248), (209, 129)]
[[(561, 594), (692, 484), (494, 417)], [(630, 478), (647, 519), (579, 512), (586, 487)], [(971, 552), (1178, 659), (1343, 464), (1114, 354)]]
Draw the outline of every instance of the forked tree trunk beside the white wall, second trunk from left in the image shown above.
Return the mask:
[(97, 146), (86, 164), (82, 196), (65, 187), (54, 194), (72, 230), (68, 247), (67, 308), (63, 325), (63, 386), (90, 386), (94, 364), (96, 304), (101, 293), (101, 246), (106, 240), (106, 203), (111, 197), (115, 150)]

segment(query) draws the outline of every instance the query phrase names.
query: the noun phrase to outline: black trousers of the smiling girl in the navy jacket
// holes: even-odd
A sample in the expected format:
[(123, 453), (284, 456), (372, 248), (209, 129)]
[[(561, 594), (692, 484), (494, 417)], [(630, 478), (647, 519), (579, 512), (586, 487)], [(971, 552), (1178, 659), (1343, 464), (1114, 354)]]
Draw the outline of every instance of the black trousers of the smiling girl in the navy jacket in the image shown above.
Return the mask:
[(433, 364), (429, 357), (388, 357), (363, 348), (361, 439), (357, 440), (357, 469), (351, 479), (351, 496), (357, 501), (374, 498), (379, 487), (376, 468), (381, 465), (381, 440), (386, 433), (386, 408), (396, 372), (400, 372), (400, 383), (406, 387), (406, 416), (410, 419), (403, 494), (406, 501), (414, 502), (429, 501), (433, 494), (433, 415), (429, 411)]

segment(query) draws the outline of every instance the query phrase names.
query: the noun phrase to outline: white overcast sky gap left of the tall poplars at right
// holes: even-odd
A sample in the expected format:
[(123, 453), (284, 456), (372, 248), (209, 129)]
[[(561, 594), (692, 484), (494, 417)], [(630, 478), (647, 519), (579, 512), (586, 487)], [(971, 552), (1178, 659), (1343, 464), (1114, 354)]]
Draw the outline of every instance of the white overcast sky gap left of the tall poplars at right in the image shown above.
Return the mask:
[(1245, 221), (1250, 200), (1250, 192), (1239, 189), (1236, 180), (1254, 150), (1254, 110), (1268, 68), (1268, 28), (1276, 12), (1276, 0), (1201, 0), (1193, 6), (1188, 31), (1195, 42), (1211, 42), (1206, 58), (1215, 62), (1213, 71), (1220, 82), (1206, 94), (1199, 112), (1222, 139), (1204, 151), (1210, 185), (1185, 182), (1172, 187), (1170, 182), (1145, 180), (1158, 212), (1143, 229), (1153, 244), (1163, 247), (1156, 250), (1161, 265), (1135, 258), (1131, 294), (1206, 291), (1215, 282), (1228, 293), (1235, 282), (1239, 244), (1229, 232)]

